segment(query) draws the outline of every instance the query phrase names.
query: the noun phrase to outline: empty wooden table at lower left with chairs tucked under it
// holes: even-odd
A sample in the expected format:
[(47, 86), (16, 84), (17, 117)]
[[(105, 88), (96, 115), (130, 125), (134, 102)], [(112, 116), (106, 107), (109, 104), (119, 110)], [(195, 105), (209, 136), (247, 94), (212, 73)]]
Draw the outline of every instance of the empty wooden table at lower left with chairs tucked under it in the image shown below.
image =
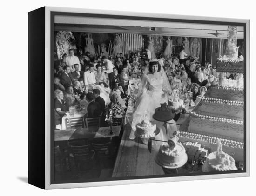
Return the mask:
[(54, 130), (54, 142), (84, 138), (117, 137), (120, 134), (121, 126), (112, 126), (112, 130), (114, 132), (113, 135), (109, 134), (110, 127), (100, 127), (95, 131), (91, 129), (89, 131), (88, 128)]

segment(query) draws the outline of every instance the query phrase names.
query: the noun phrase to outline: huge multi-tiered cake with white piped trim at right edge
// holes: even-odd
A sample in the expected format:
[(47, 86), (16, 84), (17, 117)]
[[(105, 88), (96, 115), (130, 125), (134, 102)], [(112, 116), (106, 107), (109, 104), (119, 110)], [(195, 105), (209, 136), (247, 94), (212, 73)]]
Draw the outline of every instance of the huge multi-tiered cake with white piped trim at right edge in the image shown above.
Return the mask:
[(236, 82), (223, 77), (221, 85), (211, 86), (180, 128), (181, 142), (197, 142), (210, 149), (208, 152), (217, 150), (217, 141), (222, 143), (225, 154), (221, 156), (226, 162), (218, 162), (220, 156), (216, 152), (210, 153), (208, 169), (212, 165), (215, 168), (222, 167), (220, 170), (236, 170), (235, 161), (243, 163), (244, 159), (243, 63), (234, 63), (236, 66), (233, 67), (219, 63), (217, 71), (238, 72)]

